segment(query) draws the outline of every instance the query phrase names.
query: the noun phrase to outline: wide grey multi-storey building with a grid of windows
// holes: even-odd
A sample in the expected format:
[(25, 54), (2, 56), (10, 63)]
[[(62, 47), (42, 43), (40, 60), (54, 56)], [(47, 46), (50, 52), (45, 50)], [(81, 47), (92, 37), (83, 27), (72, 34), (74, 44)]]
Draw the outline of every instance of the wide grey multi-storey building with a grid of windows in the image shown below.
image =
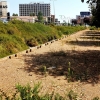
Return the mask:
[(19, 4), (19, 16), (38, 15), (41, 12), (43, 16), (50, 16), (50, 3), (30, 3)]

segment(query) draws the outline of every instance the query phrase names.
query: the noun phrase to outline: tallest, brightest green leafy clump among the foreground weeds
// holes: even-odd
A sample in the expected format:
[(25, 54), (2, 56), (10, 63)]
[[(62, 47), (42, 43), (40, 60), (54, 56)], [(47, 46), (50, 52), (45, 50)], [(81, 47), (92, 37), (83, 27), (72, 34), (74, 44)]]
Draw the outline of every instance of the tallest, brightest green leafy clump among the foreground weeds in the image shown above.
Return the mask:
[(27, 86), (18, 84), (16, 88), (20, 93), (19, 98), (21, 100), (41, 100), (41, 97), (39, 96), (40, 84), (41, 83), (34, 84), (34, 88), (31, 88), (29, 84)]

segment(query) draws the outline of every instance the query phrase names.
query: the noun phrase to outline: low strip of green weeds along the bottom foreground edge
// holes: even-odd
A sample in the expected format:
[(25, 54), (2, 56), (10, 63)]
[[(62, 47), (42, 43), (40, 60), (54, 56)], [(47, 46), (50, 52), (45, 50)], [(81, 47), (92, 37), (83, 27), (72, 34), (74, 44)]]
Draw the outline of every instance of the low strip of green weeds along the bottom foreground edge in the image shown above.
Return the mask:
[[(29, 84), (25, 86), (17, 84), (16, 92), (12, 96), (8, 96), (0, 89), (0, 100), (83, 100), (73, 90), (66, 91), (63, 96), (57, 91), (42, 94), (41, 90), (41, 82), (34, 84), (34, 87), (31, 87)], [(94, 97), (92, 100), (99, 100), (99, 97)]]

